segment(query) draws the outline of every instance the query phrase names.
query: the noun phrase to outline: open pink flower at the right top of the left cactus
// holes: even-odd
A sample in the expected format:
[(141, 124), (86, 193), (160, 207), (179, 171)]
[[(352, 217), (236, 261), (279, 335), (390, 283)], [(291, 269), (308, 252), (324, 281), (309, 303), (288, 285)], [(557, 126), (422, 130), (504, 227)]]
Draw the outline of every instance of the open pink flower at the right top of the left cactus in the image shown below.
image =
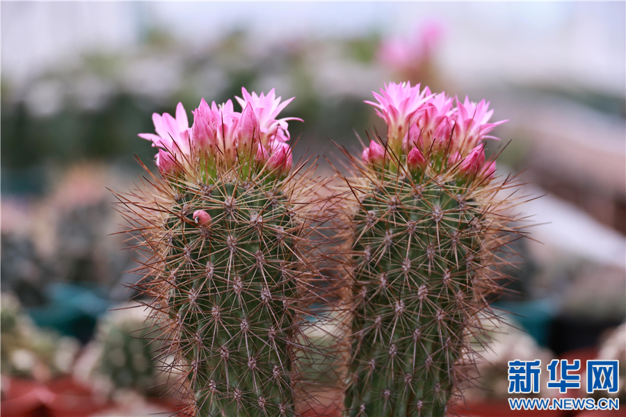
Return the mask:
[(281, 103), (280, 97), (276, 97), (273, 88), (267, 95), (264, 95), (264, 93), (257, 95), (255, 92), (252, 92), (250, 95), (246, 88), (241, 88), (241, 95), (243, 98), (235, 97), (235, 99), (239, 101), (241, 108), (246, 108), (248, 104), (252, 106), (259, 120), (261, 143), (264, 146), (267, 146), (270, 140), (281, 140), (283, 142), (289, 140), (289, 131), (287, 130), (289, 128), (287, 124), (288, 120), (303, 122), (303, 120), (298, 119), (298, 117), (276, 119), (278, 113), (280, 113), (287, 104), (291, 103), (294, 97)]

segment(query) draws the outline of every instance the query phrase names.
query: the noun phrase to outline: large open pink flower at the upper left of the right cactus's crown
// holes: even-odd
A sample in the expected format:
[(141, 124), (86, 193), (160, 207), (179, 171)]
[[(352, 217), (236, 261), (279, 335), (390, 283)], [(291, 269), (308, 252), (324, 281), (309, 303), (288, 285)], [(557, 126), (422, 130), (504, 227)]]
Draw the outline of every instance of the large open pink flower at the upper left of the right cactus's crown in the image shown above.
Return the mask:
[(407, 83), (389, 83), (381, 94), (372, 92), (378, 103), (365, 101), (376, 107), (376, 114), (387, 122), (387, 141), (392, 149), (398, 149), (408, 133), (409, 126), (425, 111), (424, 104), (431, 98), (431, 90), (419, 91), (419, 84), (411, 87)]

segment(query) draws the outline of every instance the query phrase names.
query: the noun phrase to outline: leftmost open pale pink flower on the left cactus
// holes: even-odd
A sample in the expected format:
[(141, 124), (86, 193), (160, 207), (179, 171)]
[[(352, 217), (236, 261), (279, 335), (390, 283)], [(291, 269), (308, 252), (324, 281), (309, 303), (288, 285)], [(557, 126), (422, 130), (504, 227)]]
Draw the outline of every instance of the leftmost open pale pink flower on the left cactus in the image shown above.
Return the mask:
[(168, 149), (173, 154), (190, 154), (191, 129), (189, 129), (187, 113), (182, 103), (176, 106), (176, 118), (169, 113), (163, 113), (163, 115), (154, 113), (152, 122), (157, 134), (139, 133), (140, 138), (151, 140), (152, 146)]

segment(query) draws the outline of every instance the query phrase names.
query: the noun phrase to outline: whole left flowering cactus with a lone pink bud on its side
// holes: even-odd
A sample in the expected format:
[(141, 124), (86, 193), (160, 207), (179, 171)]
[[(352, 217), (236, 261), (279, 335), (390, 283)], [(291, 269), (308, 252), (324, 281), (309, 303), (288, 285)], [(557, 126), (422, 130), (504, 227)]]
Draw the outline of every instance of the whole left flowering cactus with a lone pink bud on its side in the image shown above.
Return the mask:
[(118, 197), (149, 256), (135, 288), (193, 397), (188, 414), (292, 416), (308, 297), (300, 202), (314, 186), (290, 173), (290, 119), (276, 117), (291, 100), (242, 92), (241, 113), (202, 99), (191, 128), (182, 104), (155, 113), (157, 135), (140, 137), (161, 148), (161, 177)]

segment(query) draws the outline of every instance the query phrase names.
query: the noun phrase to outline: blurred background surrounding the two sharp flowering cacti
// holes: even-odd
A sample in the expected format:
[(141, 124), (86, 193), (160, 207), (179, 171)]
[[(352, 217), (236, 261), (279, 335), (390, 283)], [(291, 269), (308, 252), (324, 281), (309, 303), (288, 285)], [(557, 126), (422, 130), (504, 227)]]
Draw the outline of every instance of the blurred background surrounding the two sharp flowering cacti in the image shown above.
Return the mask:
[(138, 256), (107, 188), (133, 187), (134, 156), (152, 165), (137, 133), (153, 112), (275, 88), (305, 120), (290, 123), (295, 158), (336, 161), (332, 141), (357, 154), (355, 133), (384, 131), (362, 101), (387, 81), (490, 101), (510, 120), (488, 145), (506, 145), (499, 174), (543, 196), (522, 207), (540, 225), (516, 243), (494, 302), (507, 325), (463, 413), (507, 415), (484, 410), (508, 398), (513, 359), (619, 359), (625, 402), (625, 62), (623, 2), (2, 2), (2, 415), (175, 407), (136, 338), (141, 309), (111, 311), (134, 295)]

